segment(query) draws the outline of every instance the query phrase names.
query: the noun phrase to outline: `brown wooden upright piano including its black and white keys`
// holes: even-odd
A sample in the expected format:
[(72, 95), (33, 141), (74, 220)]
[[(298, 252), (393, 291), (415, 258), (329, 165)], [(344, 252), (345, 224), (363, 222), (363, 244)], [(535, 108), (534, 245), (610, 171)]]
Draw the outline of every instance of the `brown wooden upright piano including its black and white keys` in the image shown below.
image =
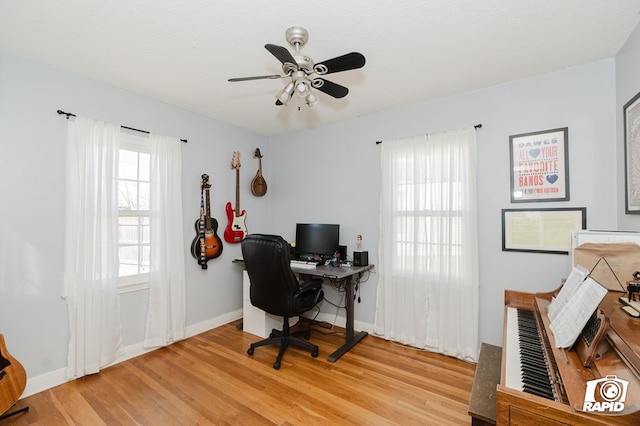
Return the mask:
[[(505, 292), (497, 424), (640, 425), (640, 318), (622, 311), (625, 293), (609, 291), (600, 303), (598, 316), (608, 325), (595, 360), (585, 362), (584, 352), (556, 348), (547, 307), (557, 292)], [(612, 379), (628, 382), (622, 405), (615, 393), (622, 387), (594, 388)], [(601, 391), (597, 404), (585, 405), (588, 393)]]

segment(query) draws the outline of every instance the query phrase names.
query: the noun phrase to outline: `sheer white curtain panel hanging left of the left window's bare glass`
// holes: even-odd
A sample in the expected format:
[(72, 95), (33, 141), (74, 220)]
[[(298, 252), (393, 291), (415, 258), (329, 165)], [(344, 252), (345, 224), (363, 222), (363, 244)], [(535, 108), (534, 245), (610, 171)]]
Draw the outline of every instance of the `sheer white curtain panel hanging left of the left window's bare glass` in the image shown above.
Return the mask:
[(68, 123), (67, 378), (96, 373), (122, 351), (117, 247), (119, 134), (120, 126), (84, 117)]

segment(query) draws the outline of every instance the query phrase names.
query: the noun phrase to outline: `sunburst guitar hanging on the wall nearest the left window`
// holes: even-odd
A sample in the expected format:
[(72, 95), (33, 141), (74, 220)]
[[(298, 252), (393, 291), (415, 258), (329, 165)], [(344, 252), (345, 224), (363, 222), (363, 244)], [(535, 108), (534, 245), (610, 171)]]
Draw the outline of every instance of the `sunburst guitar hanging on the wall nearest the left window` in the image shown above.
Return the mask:
[[(209, 175), (202, 175), (200, 181), (200, 219), (196, 220), (196, 237), (191, 243), (191, 255), (198, 260), (202, 269), (207, 269), (207, 261), (222, 254), (222, 241), (218, 237), (218, 221), (211, 217)], [(204, 199), (206, 197), (206, 210)]]

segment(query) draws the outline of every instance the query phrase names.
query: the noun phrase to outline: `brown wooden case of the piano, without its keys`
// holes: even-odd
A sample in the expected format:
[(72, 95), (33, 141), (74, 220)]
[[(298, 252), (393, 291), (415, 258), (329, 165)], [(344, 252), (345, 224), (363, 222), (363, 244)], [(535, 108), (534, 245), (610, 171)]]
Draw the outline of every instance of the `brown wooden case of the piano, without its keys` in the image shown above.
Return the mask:
[[(509, 348), (506, 339), (502, 350), (500, 383), (496, 389), (496, 424), (498, 425), (640, 425), (640, 320), (631, 319), (620, 310), (619, 293), (609, 292), (600, 309), (609, 319), (605, 337), (610, 345), (591, 367), (584, 367), (577, 352), (555, 347), (550, 331), (547, 307), (554, 292), (524, 293), (505, 291), (505, 336), (507, 306), (539, 314), (541, 344), (553, 358), (552, 377), (559, 378), (565, 401), (552, 401), (505, 386), (505, 360)], [(556, 370), (557, 369), (557, 370)], [(582, 412), (587, 382), (615, 375), (629, 382), (625, 409), (621, 414)]]

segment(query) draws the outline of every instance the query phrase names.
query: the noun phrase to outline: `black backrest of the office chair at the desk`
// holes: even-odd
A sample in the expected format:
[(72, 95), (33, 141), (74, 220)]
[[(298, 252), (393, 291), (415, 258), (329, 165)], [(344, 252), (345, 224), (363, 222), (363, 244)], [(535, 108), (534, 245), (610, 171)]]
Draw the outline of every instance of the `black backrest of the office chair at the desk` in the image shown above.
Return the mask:
[(300, 284), (291, 271), (289, 244), (279, 235), (249, 234), (242, 257), (251, 281), (251, 304), (272, 315), (295, 316)]

